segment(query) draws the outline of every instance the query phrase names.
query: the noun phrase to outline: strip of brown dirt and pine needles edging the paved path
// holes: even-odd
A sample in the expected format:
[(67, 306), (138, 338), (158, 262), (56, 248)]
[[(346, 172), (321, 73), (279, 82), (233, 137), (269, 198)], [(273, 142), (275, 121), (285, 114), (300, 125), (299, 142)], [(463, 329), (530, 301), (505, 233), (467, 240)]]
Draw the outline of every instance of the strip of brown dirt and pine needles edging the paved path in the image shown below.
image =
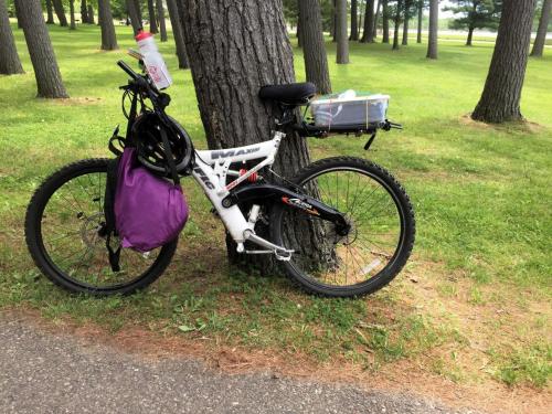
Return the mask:
[(349, 383), (371, 391), (414, 393), (450, 406), (469, 406), (487, 412), (538, 414), (552, 411), (552, 393), (549, 390), (539, 392), (529, 388), (509, 389), (492, 381), (458, 384), (429, 372), (423, 361), (402, 360), (386, 364), (374, 373), (346, 360), (320, 364), (300, 352), (227, 347), (213, 338), (201, 336), (194, 339), (162, 336), (141, 327), (128, 327), (110, 333), (98, 326), (77, 326), (71, 320), (49, 322), (40, 318), (39, 311), (30, 310), (12, 311), (9, 317), (55, 335), (74, 336), (85, 344), (108, 344), (146, 359), (198, 358), (212, 369), (233, 374), (272, 371), (275, 376)]

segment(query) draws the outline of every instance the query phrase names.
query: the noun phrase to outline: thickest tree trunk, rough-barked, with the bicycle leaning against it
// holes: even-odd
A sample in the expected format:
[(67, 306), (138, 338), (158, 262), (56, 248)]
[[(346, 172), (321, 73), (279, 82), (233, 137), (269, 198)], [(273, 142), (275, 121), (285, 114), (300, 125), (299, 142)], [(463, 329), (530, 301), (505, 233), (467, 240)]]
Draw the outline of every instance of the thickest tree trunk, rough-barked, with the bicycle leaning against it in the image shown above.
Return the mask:
[[(184, 6), (184, 38), (209, 148), (269, 139), (282, 114), (275, 103), (257, 98), (258, 89), (295, 82), (282, 1), (178, 1)], [(310, 157), (306, 140), (286, 132), (275, 169), (289, 177)], [(237, 261), (235, 245), (227, 246), (231, 261)]]

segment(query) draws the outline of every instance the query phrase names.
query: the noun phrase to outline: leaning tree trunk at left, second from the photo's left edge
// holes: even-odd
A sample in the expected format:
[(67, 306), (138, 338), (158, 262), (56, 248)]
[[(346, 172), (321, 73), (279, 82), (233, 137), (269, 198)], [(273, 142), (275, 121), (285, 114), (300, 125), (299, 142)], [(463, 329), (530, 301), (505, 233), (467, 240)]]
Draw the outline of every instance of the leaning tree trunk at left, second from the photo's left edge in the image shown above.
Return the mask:
[(34, 67), (38, 96), (42, 98), (68, 97), (63, 86), (40, 0), (15, 1), (21, 11), (21, 25)]

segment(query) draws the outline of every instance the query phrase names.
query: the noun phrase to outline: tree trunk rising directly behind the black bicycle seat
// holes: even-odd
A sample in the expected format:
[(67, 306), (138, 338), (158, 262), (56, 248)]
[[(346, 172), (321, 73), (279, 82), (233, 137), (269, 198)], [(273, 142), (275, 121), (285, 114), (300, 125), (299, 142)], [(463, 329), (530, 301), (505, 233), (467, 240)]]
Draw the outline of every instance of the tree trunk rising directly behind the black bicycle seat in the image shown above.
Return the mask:
[(322, 13), (318, 0), (299, 1), (299, 19), (304, 40), (307, 81), (317, 86), (319, 94), (331, 92), (328, 56), (322, 34)]

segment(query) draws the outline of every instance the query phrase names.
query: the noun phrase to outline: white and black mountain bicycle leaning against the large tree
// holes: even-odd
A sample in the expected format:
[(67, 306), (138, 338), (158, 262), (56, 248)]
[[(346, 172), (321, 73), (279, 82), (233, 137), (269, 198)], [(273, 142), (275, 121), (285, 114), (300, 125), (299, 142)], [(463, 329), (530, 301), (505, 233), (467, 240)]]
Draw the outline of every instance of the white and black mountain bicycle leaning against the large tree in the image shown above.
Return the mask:
[[(157, 91), (147, 74), (137, 74), (123, 61), (118, 65), (130, 76), (128, 85), (121, 86), (132, 96), (127, 135), (140, 116), (137, 103), (144, 112), (145, 99), (155, 114), (185, 134), (164, 114), (170, 97)], [(273, 255), (311, 294), (371, 294), (389, 284), (411, 255), (413, 208), (391, 173), (361, 158), (321, 159), (289, 179), (272, 170), (286, 137), (284, 128), (293, 127), (305, 137), (328, 134), (327, 128), (295, 116), (295, 108), (315, 93), (314, 85), (308, 85), (264, 87), (259, 96), (283, 109), (272, 139), (238, 148), (193, 150), (189, 174), (213, 204), (238, 253)], [(333, 131), (370, 132), (369, 147), (378, 129), (393, 127), (400, 126), (385, 120)], [(118, 127), (114, 136), (117, 132)], [(178, 237), (147, 253), (123, 250), (120, 269), (110, 268), (104, 243), (108, 160), (85, 159), (61, 168), (36, 189), (26, 211), (25, 240), (34, 263), (49, 279), (72, 293), (106, 296), (142, 289), (161, 276), (177, 248)], [(252, 161), (256, 164), (247, 170), (234, 168)], [(268, 223), (266, 238), (255, 232), (259, 222)]]

